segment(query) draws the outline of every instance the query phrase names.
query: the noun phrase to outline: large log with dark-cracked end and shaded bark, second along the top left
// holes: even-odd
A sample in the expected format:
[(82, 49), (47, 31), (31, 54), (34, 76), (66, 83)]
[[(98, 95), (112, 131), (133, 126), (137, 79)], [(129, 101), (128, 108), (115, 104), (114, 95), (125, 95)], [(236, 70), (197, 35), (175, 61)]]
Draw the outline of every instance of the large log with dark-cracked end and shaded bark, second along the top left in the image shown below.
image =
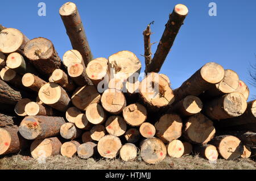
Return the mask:
[(48, 77), (55, 69), (60, 68), (61, 60), (52, 42), (43, 37), (28, 41), (24, 54), (40, 73)]

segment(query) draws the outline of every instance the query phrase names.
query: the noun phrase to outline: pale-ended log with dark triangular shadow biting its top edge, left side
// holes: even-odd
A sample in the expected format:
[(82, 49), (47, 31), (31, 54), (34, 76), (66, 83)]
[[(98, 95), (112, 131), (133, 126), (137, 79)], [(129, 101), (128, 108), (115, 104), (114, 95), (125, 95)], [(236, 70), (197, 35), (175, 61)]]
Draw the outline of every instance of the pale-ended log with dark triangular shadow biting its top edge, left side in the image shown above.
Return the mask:
[(43, 85), (38, 92), (39, 99), (44, 104), (65, 112), (68, 109), (70, 98), (65, 90), (56, 83), (49, 82)]

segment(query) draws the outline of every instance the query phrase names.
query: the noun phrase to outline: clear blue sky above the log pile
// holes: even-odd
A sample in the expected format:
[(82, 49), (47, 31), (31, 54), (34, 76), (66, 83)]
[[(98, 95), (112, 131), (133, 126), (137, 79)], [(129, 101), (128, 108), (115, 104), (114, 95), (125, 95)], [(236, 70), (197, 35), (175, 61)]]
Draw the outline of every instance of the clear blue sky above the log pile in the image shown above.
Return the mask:
[[(46, 3), (46, 16), (38, 16), (38, 3)], [(1, 1), (0, 24), (17, 28), (29, 39), (46, 37), (51, 40), (62, 58), (72, 49), (65, 33), (59, 8), (67, 1)], [(151, 41), (159, 41), (177, 3), (189, 9), (184, 25), (168, 54), (160, 73), (171, 79), (172, 88), (179, 87), (197, 69), (214, 61), (225, 69), (238, 73), (246, 82), (251, 95), (256, 89), (249, 85), (247, 69), (255, 62), (256, 53), (256, 1), (228, 0), (140, 0), (140, 1), (72, 1), (76, 3), (94, 58), (106, 57), (120, 50), (134, 52), (142, 62), (144, 54), (142, 32), (147, 24), (154, 35)], [(209, 16), (210, 2), (217, 4), (217, 16)], [(152, 45), (152, 52), (157, 44)]]

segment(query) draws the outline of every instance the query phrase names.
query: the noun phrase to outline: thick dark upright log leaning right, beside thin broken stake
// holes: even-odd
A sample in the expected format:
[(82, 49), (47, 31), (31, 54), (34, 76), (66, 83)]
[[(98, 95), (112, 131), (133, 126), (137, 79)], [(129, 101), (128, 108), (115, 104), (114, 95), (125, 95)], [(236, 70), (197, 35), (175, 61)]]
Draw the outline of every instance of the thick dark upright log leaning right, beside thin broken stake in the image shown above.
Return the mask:
[(166, 60), (167, 54), (170, 52), (172, 45), (174, 44), (175, 37), (180, 30), (181, 25), (184, 22), (185, 17), (188, 14), (186, 6), (178, 4), (174, 7), (172, 14), (169, 15), (169, 20), (166, 24), (166, 28), (158, 44), (158, 48), (154, 54), (149, 68), (146, 73), (152, 71), (159, 72), (164, 60)]

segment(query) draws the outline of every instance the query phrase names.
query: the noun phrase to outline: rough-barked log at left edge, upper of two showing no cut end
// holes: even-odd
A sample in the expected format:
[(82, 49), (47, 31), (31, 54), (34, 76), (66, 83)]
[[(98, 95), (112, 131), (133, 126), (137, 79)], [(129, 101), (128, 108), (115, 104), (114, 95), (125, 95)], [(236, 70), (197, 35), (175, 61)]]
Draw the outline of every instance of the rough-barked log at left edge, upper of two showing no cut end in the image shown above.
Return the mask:
[(15, 105), (20, 99), (22, 99), (22, 93), (0, 79), (0, 102)]

